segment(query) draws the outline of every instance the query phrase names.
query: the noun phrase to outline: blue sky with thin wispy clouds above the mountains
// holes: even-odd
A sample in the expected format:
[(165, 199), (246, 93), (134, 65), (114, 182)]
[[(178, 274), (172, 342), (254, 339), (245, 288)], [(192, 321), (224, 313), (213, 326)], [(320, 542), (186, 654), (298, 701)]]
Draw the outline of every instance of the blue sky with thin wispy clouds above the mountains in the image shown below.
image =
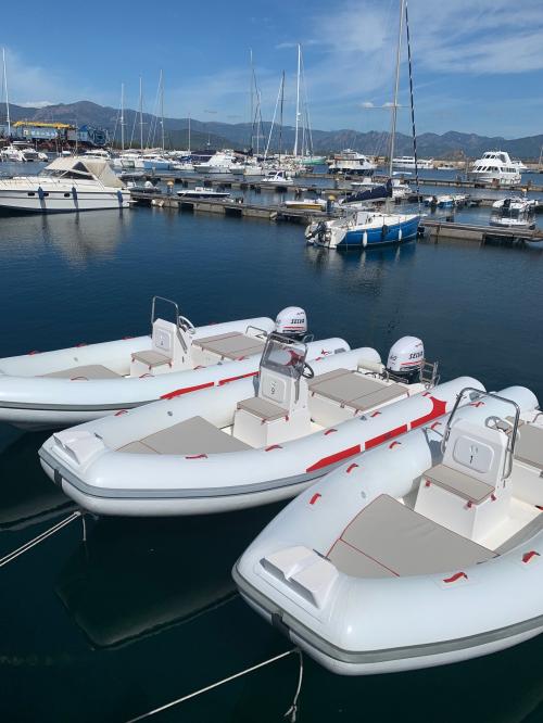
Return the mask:
[[(417, 130), (518, 137), (543, 131), (542, 0), (409, 0)], [(201, 120), (249, 116), (249, 49), (270, 118), (287, 73), (286, 123), (294, 122), (295, 43), (301, 42), (314, 128), (381, 130), (390, 112), (399, 0), (233, 0), (2, 9), (10, 100), (20, 104), (138, 102), (152, 111), (159, 72), (165, 111)], [(47, 14), (47, 11), (46, 11)], [(34, 20), (36, 18), (36, 20)], [(407, 74), (402, 67), (402, 99)], [(400, 129), (408, 129), (407, 110)]]

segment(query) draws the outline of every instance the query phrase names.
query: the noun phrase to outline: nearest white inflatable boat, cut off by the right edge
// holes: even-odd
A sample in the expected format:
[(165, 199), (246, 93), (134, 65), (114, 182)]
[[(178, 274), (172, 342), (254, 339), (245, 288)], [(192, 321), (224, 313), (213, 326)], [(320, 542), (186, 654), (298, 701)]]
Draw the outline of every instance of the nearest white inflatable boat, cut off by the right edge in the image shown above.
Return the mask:
[(520, 386), (458, 402), (305, 491), (235, 567), (249, 604), (333, 672), (440, 665), (543, 631), (543, 414)]

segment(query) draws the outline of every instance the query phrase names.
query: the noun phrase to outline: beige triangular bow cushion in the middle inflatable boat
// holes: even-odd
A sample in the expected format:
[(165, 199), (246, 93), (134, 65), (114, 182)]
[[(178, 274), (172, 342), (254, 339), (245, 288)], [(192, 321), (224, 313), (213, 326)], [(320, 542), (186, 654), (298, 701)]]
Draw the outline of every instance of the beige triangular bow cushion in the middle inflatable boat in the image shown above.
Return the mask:
[(202, 455), (223, 452), (240, 452), (251, 447), (235, 436), (223, 432), (202, 417), (191, 417), (182, 422), (149, 434), (119, 447), (117, 452), (160, 455)]

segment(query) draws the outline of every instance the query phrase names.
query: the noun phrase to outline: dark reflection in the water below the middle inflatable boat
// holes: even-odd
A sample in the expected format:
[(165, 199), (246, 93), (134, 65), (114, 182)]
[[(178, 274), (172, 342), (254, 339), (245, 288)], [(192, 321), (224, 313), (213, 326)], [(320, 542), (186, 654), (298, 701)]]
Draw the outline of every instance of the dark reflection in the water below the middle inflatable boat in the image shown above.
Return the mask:
[(280, 507), (182, 524), (102, 518), (62, 570), (56, 595), (96, 648), (197, 621), (238, 595), (232, 565)]

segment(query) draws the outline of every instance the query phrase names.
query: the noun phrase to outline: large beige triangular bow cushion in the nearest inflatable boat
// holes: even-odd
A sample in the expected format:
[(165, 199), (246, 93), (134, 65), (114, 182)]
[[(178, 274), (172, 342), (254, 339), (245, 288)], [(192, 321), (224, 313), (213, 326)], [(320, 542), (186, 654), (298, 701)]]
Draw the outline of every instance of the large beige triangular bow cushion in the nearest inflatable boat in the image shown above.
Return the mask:
[(495, 553), (380, 495), (351, 521), (327, 557), (355, 578), (392, 578), (462, 570)]

